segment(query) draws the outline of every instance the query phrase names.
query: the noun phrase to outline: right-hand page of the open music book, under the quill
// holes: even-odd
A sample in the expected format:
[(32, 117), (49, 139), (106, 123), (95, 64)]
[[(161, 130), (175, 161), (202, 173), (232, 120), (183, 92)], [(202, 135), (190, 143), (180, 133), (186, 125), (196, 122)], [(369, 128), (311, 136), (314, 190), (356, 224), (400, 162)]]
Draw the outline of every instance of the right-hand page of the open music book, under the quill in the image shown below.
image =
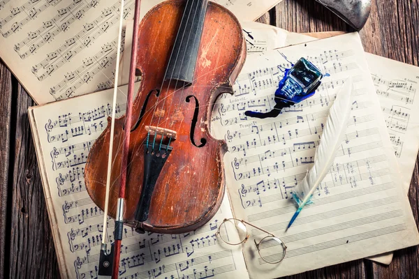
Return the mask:
[[(293, 62), (307, 56), (330, 77), (323, 78), (316, 95), (277, 118), (247, 118), (246, 110), (272, 110), (281, 67), (290, 67), (280, 52)], [(258, 257), (253, 241), (244, 245), (251, 278), (286, 276), (418, 243), (364, 57), (358, 33), (249, 56), (235, 95), (224, 96), (214, 110), (212, 129), (228, 143), (224, 163), (236, 218), (288, 246), (284, 261), (271, 265)], [(346, 140), (313, 204), (285, 232), (296, 209), (293, 187), (314, 162), (328, 109), (348, 76), (354, 81), (354, 102)], [(256, 229), (251, 234), (256, 240), (265, 236)]]

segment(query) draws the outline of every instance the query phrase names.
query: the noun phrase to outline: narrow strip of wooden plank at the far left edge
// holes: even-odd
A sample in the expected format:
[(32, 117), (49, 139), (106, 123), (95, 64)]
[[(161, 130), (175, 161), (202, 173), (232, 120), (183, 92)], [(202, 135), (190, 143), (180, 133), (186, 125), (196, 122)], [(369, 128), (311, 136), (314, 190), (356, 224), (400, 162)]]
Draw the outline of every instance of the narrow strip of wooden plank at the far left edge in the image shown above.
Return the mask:
[[(10, 117), (12, 106), (12, 77), (0, 61), (0, 278), (6, 278), (6, 220), (8, 213), (8, 173), (10, 146)], [(6, 261), (6, 262), (5, 262)]]

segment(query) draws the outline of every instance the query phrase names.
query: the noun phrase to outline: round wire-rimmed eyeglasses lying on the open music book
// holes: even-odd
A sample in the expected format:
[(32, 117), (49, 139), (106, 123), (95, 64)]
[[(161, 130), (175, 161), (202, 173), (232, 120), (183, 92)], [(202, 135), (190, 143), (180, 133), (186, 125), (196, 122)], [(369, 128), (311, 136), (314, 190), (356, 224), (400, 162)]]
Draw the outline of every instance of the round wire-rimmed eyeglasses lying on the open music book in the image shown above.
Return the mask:
[[(239, 245), (242, 243), (246, 243), (249, 239), (249, 234), (247, 233), (247, 227), (249, 225), (256, 229), (260, 229), (260, 227), (256, 227), (255, 225), (251, 225), (244, 220), (239, 220), (236, 218), (229, 218), (224, 219), (223, 223), (218, 228), (216, 232), (217, 236), (220, 236), (220, 239), (229, 245)], [(262, 232), (269, 234), (261, 239), (259, 242), (255, 241), (256, 249), (260, 255), (260, 258), (263, 261), (267, 262), (268, 264), (279, 264), (286, 254), (286, 245), (284, 242), (281, 241), (277, 236), (266, 232), (263, 229), (260, 229)], [(226, 232), (225, 234), (221, 234), (221, 232)], [(230, 239), (235, 233), (238, 233), (239, 239)]]

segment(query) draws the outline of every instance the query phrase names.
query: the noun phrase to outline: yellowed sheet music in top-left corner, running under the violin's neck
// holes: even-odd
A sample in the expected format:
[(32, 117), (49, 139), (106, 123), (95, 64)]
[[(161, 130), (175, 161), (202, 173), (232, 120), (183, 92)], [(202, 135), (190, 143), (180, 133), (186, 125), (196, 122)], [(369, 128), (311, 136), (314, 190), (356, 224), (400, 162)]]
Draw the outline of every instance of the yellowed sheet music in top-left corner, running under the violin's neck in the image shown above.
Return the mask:
[[(141, 1), (141, 16), (161, 2)], [(219, 1), (240, 20), (254, 20), (278, 2)], [(125, 1), (126, 20), (134, 3)], [(2, 0), (1, 59), (38, 104), (109, 89), (119, 8), (119, 0)]]

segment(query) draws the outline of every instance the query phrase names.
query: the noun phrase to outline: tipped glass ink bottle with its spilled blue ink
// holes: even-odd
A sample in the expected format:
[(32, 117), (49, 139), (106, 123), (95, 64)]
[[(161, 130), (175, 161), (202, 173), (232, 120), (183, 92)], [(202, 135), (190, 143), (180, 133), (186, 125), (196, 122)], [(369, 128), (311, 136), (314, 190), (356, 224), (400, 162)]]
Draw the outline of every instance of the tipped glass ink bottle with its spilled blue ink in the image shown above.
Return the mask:
[[(280, 52), (281, 54), (281, 52)], [(281, 54), (284, 56), (284, 54)], [(286, 56), (284, 59), (288, 61)], [(290, 61), (288, 61), (291, 63)], [(295, 63), (291, 63), (292, 68), (284, 68), (284, 77), (279, 81), (278, 89), (275, 91), (275, 106), (270, 112), (244, 112), (246, 116), (265, 119), (267, 117), (277, 117), (284, 107), (290, 107), (295, 103), (300, 103), (314, 95), (316, 89), (321, 84), (322, 73), (307, 59), (301, 58)], [(278, 66), (280, 69), (281, 66)], [(281, 70), (282, 71), (282, 70)], [(330, 76), (326, 74), (325, 76)]]

